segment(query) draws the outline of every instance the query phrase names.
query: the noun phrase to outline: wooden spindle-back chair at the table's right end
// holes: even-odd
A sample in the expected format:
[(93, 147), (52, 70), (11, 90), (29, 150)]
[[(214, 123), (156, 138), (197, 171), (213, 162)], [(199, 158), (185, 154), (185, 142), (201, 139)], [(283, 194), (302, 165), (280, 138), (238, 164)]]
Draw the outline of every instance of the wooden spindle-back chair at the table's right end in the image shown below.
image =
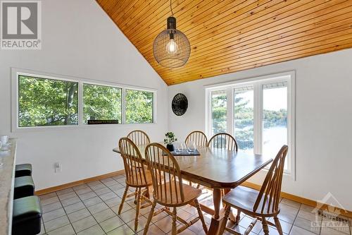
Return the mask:
[[(222, 202), (225, 203), (226, 210), (225, 218), (223, 219), (222, 226), (220, 227), (220, 234), (222, 234), (225, 230), (229, 231), (231, 234), (239, 234), (237, 231), (226, 227), (231, 207), (234, 207), (237, 209), (237, 224), (239, 222), (241, 212), (254, 217), (253, 222), (251, 222), (244, 234), (249, 234), (259, 219), (263, 224), (264, 234), (269, 234), (268, 224), (270, 224), (275, 226), (279, 234), (282, 235), (282, 227), (277, 215), (279, 215), (280, 212), (279, 198), (281, 192), (282, 174), (284, 173), (284, 161), (288, 148), (289, 147), (287, 147), (287, 145), (284, 145), (281, 150), (279, 150), (279, 153), (277, 153), (277, 156), (272, 162), (260, 191), (238, 186), (222, 198)], [(275, 224), (269, 222), (266, 219), (268, 217), (274, 217)]]

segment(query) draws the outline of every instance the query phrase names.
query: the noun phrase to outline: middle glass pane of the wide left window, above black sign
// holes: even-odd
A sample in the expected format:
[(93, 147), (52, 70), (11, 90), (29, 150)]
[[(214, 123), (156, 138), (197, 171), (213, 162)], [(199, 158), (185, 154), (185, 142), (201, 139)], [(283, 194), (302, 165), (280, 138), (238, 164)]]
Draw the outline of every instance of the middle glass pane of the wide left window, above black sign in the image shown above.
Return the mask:
[(118, 120), (121, 123), (121, 88), (83, 84), (83, 122)]

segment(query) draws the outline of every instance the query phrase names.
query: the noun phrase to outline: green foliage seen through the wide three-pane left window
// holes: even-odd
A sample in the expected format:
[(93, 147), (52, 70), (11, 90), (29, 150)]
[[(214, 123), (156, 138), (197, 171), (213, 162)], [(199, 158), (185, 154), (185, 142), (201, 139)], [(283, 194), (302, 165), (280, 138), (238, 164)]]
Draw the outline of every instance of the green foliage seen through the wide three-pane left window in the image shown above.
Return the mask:
[[(78, 124), (78, 83), (19, 76), (20, 127)], [(126, 90), (126, 122), (153, 122), (153, 92)], [(122, 120), (122, 89), (83, 85), (83, 121)]]

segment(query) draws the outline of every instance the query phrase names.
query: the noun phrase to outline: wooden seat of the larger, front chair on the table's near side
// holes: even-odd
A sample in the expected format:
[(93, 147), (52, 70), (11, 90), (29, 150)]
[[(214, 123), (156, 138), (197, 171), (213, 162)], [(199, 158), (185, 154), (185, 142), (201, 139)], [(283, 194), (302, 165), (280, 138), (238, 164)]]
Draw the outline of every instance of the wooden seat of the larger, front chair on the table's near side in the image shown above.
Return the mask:
[[(168, 198), (165, 199), (165, 195), (163, 198), (154, 198), (159, 204), (165, 205), (165, 206), (175, 206), (179, 207), (182, 205), (187, 205), (194, 201), (194, 199), (198, 198), (201, 195), (201, 189), (199, 188), (193, 188), (192, 186), (189, 186), (188, 184), (182, 183), (183, 185), (183, 193), (184, 193), (184, 200), (182, 201), (180, 198), (180, 194), (176, 195), (176, 190), (175, 190), (175, 184), (172, 183), (171, 189), (170, 189), (170, 183), (165, 183), (161, 184), (161, 188), (163, 188), (163, 191), (165, 192), (165, 187), (166, 187), (166, 192), (168, 192)], [(159, 189), (160, 190), (160, 189)], [(172, 200), (170, 196), (170, 190), (172, 192)], [(180, 184), (177, 183), (177, 192), (180, 192)], [(178, 200), (177, 200), (178, 199)]]

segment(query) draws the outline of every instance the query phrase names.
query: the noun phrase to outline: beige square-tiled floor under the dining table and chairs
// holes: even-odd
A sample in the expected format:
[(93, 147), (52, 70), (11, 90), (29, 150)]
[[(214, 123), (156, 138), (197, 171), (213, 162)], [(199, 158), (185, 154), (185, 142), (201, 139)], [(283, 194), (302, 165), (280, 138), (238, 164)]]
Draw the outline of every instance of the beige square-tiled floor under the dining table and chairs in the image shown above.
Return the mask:
[[(133, 197), (125, 203), (121, 215), (118, 214), (118, 207), (125, 190), (125, 176), (116, 176), (92, 183), (82, 184), (62, 191), (56, 191), (46, 195), (41, 195), (43, 207), (43, 223), (41, 234), (60, 235), (127, 235), (143, 234), (150, 207), (141, 210), (142, 216), (139, 218), (138, 231), (134, 232), (135, 205)], [(132, 188), (133, 190), (133, 188)], [(211, 206), (211, 194), (204, 191), (200, 202)], [(348, 224), (344, 224), (339, 229), (312, 229), (311, 222), (315, 221), (315, 214), (311, 211), (313, 207), (301, 205), (290, 200), (282, 199), (280, 203), (281, 220), (284, 234), (291, 235), (351, 235), (351, 219)], [(197, 212), (189, 205), (181, 207), (177, 215), (184, 219), (196, 217)], [(210, 224), (210, 215), (204, 213), (206, 223)], [(323, 222), (327, 219), (319, 217)], [(237, 230), (243, 233), (245, 228), (251, 223), (251, 218), (241, 216)], [(171, 234), (170, 216), (165, 212), (153, 217), (149, 227), (149, 234)], [(201, 222), (189, 227), (182, 232), (184, 235), (204, 234)], [(253, 228), (251, 234), (263, 234), (260, 222)], [(270, 234), (278, 234), (275, 228), (270, 227)]]

